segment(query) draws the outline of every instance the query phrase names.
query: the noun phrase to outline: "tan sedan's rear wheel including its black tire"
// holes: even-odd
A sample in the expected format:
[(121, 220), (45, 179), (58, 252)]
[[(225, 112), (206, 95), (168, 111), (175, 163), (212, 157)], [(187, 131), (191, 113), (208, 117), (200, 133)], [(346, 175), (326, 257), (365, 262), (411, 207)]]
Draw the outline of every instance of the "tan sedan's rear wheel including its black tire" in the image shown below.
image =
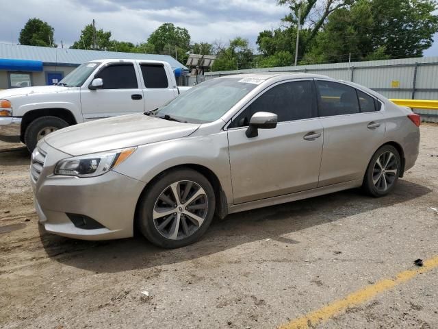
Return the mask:
[(362, 187), (373, 197), (383, 197), (396, 186), (400, 170), (401, 161), (397, 149), (391, 145), (383, 145), (372, 156)]

